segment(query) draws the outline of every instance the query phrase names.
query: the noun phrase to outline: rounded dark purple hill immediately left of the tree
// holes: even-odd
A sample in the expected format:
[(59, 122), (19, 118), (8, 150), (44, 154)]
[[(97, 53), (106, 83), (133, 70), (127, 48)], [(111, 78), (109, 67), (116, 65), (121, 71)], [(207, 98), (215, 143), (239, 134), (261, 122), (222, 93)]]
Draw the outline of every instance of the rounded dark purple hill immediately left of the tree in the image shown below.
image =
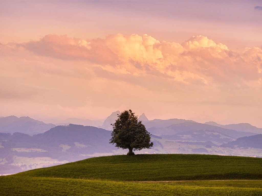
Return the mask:
[[(110, 138), (111, 131), (93, 126), (69, 124), (56, 126), (43, 134), (35, 135), (32, 137), (32, 141), (42, 147), (59, 147), (62, 144), (71, 146), (66, 150), (67, 152), (81, 151), (92, 154), (94, 152), (111, 152)], [(78, 145), (75, 144), (76, 142)]]

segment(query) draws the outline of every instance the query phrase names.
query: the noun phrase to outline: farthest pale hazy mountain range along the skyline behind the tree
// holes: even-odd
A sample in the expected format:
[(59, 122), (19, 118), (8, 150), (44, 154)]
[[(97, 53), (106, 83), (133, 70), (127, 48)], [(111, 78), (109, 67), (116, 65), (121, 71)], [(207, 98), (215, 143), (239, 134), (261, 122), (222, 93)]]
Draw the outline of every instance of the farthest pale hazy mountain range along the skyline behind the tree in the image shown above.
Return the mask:
[[(112, 130), (112, 125), (117, 119), (117, 114), (120, 111), (113, 112), (104, 121), (102, 120), (89, 120), (89, 119), (78, 119), (78, 118), (68, 118), (65, 120), (47, 120), (53, 123), (44, 123), (39, 120), (32, 119), (30, 117), (0, 117), (0, 132), (4, 133), (14, 133), (21, 132), (28, 135), (35, 135), (43, 133), (57, 125), (69, 125), (69, 124), (79, 124), (84, 126), (95, 126), (98, 128)], [(143, 113), (139, 116), (138, 120), (141, 120), (145, 125), (146, 129), (151, 134), (156, 135), (174, 135), (179, 132), (189, 131), (189, 130), (214, 130), (222, 131), (223, 134), (232, 136), (233, 138), (238, 138), (242, 136), (250, 136), (252, 134), (261, 134), (262, 129), (257, 128), (248, 123), (239, 124), (228, 124), (221, 125), (215, 122), (197, 123), (193, 120), (185, 119), (154, 119), (148, 120), (148, 118)], [(246, 133), (242, 133), (246, 132)]]

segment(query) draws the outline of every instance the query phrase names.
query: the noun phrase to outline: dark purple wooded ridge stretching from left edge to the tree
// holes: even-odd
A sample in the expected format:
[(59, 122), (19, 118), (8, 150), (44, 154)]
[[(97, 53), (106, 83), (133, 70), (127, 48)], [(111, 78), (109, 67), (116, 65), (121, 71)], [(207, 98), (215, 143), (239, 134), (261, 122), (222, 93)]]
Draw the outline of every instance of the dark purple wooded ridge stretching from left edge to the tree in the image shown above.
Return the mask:
[[(8, 148), (41, 148), (47, 151), (92, 154), (111, 152), (109, 144), (111, 131), (83, 125), (56, 126), (42, 134), (29, 136), (16, 132), (13, 135), (0, 134), (0, 141)], [(47, 154), (47, 153), (46, 153)]]

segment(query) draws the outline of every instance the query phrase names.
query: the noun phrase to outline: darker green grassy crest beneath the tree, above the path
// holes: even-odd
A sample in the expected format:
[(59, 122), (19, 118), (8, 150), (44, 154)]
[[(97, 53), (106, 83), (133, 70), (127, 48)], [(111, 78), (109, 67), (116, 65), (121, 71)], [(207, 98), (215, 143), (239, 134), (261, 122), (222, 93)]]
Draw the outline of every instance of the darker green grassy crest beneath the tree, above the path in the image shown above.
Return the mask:
[(262, 159), (196, 154), (117, 155), (17, 175), (112, 181), (262, 180)]

